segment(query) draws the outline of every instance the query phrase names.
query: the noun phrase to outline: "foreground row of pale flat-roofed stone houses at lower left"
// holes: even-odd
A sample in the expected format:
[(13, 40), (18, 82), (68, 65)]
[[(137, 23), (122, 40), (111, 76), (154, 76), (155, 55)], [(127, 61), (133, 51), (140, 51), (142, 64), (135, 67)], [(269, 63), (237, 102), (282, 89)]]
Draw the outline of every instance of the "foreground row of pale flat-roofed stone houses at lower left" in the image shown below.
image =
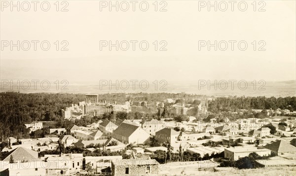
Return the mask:
[[(13, 158), (12, 163), (10, 158)], [(85, 163), (86, 169), (83, 169)], [(44, 155), (18, 147), (0, 161), (2, 176), (79, 175), (95, 171), (98, 175), (157, 175), (159, 163), (154, 159), (122, 159), (122, 156), (85, 156), (82, 153)]]

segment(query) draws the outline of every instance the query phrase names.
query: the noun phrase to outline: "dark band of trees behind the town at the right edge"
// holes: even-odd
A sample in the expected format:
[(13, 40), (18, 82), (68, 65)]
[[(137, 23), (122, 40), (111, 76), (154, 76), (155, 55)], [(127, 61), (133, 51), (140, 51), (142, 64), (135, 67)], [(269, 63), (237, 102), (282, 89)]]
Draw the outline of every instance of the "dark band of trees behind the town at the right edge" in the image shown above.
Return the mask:
[(211, 112), (238, 111), (238, 109), (289, 109), (296, 110), (296, 97), (218, 97), (209, 102)]

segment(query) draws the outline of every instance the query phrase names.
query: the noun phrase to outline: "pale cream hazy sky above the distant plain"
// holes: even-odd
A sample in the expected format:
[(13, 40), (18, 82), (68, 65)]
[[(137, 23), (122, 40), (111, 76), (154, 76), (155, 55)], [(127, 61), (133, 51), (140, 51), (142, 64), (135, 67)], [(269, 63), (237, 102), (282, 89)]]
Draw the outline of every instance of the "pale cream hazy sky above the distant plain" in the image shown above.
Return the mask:
[[(22, 1), (21, 1), (22, 2)], [(40, 1), (41, 2), (41, 1)], [(296, 4), (295, 0), (265, 0), (257, 3), (246, 0), (246, 11), (240, 11), (236, 1), (234, 11), (228, 3), (226, 11), (201, 8), (200, 1), (167, 0), (155, 11), (153, 1), (142, 11), (139, 3), (132, 10), (115, 11), (108, 7), (100, 11), (99, 0), (70, 0), (66, 9), (56, 11), (55, 0), (49, 1), (50, 9), (42, 11), (33, 4), (29, 11), (17, 11), (3, 7), (0, 11), (0, 40), (20, 42), (47, 40), (50, 49), (43, 51), (40, 42), (37, 51), (33, 43), (29, 51), (10, 51), (10, 46), (0, 51), (1, 79), (67, 79), (71, 83), (93, 82), (101, 79), (147, 79), (169, 81), (195, 81), (199, 79), (245, 80), (295, 80), (296, 75)], [(114, 2), (114, 1), (113, 1)], [(121, 1), (118, 1), (119, 3)], [(139, 1), (141, 2), (141, 1)], [(218, 3), (220, 1), (217, 1)], [(226, 1), (228, 2), (228, 1)], [(115, 2), (114, 2), (115, 3)], [(39, 3), (40, 4), (40, 3)], [(5, 4), (6, 5), (6, 4)], [(167, 11), (159, 11), (166, 5)], [(44, 5), (45, 6), (45, 5)], [(65, 4), (60, 4), (61, 9)], [(241, 7), (243, 8), (243, 4)], [(262, 7), (264, 6), (264, 7)], [(26, 4), (23, 6), (27, 8)], [(259, 7), (265, 11), (259, 11)], [(122, 8), (125, 8), (124, 4)], [(143, 4), (145, 8), (145, 4)], [(224, 8), (221, 4), (221, 9)], [(21, 8), (22, 9), (22, 8)], [(54, 42), (67, 40), (69, 51), (56, 51)], [(147, 51), (100, 50), (100, 40), (146, 40)], [(153, 42), (158, 41), (158, 51)], [(159, 51), (165, 40), (167, 51)], [(199, 50), (199, 41), (225, 40), (225, 51), (207, 47)], [(229, 40), (236, 40), (234, 51)], [(245, 51), (237, 43), (248, 44)], [(257, 48), (254, 51), (254, 44)], [(264, 42), (266, 51), (258, 51)], [(26, 46), (26, 45), (24, 45)], [(124, 45), (125, 46), (125, 45)], [(243, 45), (242, 45), (243, 46)], [(222, 48), (224, 45), (222, 45)], [(60, 50), (61, 48), (59, 48)]]

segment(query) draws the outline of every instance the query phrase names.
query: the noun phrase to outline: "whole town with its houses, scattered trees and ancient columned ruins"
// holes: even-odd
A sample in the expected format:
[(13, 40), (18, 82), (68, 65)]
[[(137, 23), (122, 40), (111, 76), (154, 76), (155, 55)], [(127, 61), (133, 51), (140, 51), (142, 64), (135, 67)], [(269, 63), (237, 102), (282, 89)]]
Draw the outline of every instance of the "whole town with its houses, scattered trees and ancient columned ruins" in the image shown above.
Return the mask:
[[(265, 107), (275, 99), (270, 108), (253, 109), (230, 108), (238, 97), (185, 93), (155, 95), (158, 100), (136, 94), (112, 99), (106, 98), (111, 94), (80, 96), (57, 109), (58, 120), (46, 112), (43, 118), (31, 115), (33, 121), (23, 124), (24, 132), (1, 131), (0, 175), (211, 175), (283, 166), (295, 174), (295, 97), (265, 98)], [(182, 167), (186, 170), (179, 173)]]

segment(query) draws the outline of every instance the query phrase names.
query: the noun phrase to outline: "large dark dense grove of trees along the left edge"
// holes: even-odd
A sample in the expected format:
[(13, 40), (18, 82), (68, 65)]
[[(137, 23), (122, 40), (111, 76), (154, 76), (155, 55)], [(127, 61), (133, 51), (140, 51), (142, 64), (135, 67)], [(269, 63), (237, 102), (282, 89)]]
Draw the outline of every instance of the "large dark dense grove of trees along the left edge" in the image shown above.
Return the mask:
[(0, 93), (0, 138), (28, 137), (29, 129), (24, 124), (41, 120), (58, 120), (61, 109), (85, 100), (79, 94), (21, 94)]

